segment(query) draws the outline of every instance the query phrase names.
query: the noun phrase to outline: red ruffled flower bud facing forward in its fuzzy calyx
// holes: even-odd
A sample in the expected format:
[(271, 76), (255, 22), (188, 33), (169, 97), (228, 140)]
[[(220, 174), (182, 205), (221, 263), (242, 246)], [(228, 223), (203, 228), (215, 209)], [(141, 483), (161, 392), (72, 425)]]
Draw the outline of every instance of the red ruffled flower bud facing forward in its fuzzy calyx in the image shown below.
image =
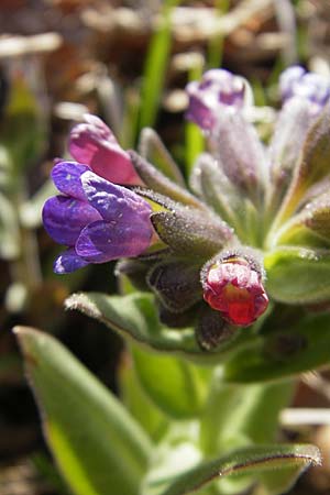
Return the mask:
[(248, 257), (216, 258), (205, 266), (201, 277), (205, 300), (232, 324), (248, 327), (268, 306), (262, 273)]

